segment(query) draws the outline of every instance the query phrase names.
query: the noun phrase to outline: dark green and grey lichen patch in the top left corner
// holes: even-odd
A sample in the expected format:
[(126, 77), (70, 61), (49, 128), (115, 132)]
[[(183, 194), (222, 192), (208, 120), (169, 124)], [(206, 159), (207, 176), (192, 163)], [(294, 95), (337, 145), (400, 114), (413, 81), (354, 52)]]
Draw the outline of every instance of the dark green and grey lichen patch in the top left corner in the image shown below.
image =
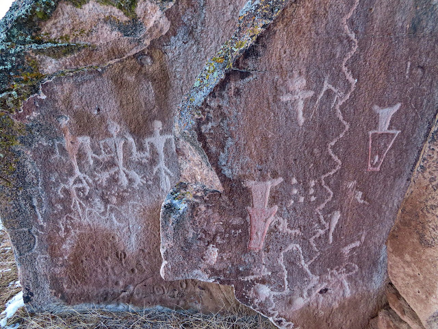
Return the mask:
[(62, 58), (89, 47), (68, 43), (69, 36), (51, 40), (40, 33), (40, 23), (49, 19), (58, 1), (35, 0), (24, 9), (16, 8), (10, 26), (0, 25), (1, 111), (15, 113), (25, 99), (38, 93), (46, 76), (40, 72), (35, 55)]

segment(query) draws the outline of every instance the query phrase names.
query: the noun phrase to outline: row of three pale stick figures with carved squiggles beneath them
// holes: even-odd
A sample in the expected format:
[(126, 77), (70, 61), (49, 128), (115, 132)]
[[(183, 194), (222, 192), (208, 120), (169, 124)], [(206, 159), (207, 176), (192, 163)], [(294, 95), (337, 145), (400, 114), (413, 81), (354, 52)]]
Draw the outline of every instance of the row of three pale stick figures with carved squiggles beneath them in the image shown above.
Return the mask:
[[(136, 248), (136, 230), (144, 219), (139, 217), (143, 205), (151, 201), (132, 195), (143, 188), (153, 195), (163, 195), (170, 188), (174, 175), (166, 166), (166, 154), (175, 151), (173, 138), (162, 135), (162, 122), (153, 122), (153, 136), (135, 141), (131, 134), (120, 132), (120, 125), (107, 123), (107, 137), (92, 141), (89, 136), (75, 136), (70, 132), (70, 119), (60, 116), (58, 122), (63, 141), (54, 141), (53, 160), (66, 162), (66, 178), (59, 177), (57, 195), (70, 200), (69, 209), (60, 221), (60, 235), (76, 221), (117, 227), (128, 241), (128, 248)], [(62, 145), (62, 148), (59, 146)], [(138, 147), (140, 145), (140, 147)], [(168, 149), (168, 151), (166, 151)], [(55, 180), (55, 178), (53, 178)], [(120, 202), (131, 193), (129, 202)]]

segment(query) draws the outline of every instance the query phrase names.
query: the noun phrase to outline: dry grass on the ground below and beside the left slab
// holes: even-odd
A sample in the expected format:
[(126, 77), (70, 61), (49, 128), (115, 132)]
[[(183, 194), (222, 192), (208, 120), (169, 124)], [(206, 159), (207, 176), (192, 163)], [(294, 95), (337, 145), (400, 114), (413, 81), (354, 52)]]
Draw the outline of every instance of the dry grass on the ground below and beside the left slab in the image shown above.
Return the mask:
[[(14, 254), (8, 234), (0, 230), (0, 312), (5, 303), (21, 288)], [(10, 269), (4, 271), (5, 269)], [(113, 312), (90, 309), (86, 312), (69, 310), (64, 313), (29, 314), (24, 308), (9, 319), (8, 326), (19, 324), (28, 329), (274, 329), (270, 321), (241, 304), (234, 305), (226, 314), (202, 315), (186, 311), (152, 310), (144, 313)]]

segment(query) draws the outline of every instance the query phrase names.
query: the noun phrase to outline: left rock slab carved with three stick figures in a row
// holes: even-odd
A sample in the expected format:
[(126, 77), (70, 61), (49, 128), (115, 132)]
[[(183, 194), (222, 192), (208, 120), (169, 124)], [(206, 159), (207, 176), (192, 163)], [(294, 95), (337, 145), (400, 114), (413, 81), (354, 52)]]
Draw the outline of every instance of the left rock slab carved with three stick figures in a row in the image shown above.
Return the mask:
[[(14, 5), (3, 20), (2, 47), (14, 49), (18, 18), (41, 3)], [(229, 287), (160, 277), (159, 210), (179, 180), (173, 113), (233, 34), (243, 6), (141, 0), (132, 17), (93, 1), (81, 8), (60, 1), (44, 19), (35, 17), (38, 27), (20, 39), (17, 56), (39, 73), (14, 76), (0, 90), (1, 219), (28, 306), (216, 311), (233, 302)], [(60, 42), (81, 47), (55, 51)], [(10, 75), (16, 66), (1, 60)], [(16, 107), (8, 97), (27, 95), (25, 83), (38, 93)]]

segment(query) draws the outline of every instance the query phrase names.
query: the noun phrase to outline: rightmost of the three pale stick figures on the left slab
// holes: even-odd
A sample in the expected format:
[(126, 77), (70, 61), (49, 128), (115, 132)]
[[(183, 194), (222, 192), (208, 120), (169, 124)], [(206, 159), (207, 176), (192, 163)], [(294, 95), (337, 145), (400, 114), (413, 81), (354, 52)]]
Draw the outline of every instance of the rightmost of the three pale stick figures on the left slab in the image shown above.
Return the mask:
[(170, 141), (172, 149), (175, 149), (175, 142), (173, 141), (173, 136), (161, 135), (160, 132), (163, 129), (162, 121), (155, 120), (153, 121), (153, 136), (144, 139), (144, 148), (146, 149), (146, 153), (149, 155), (149, 144), (152, 144), (157, 150), (158, 154), (158, 163), (153, 169), (153, 175), (157, 173), (159, 175), (159, 187), (163, 192), (167, 192), (170, 190), (170, 179), (172, 177), (172, 172), (166, 167), (166, 162), (164, 160), (164, 146), (166, 145), (166, 141)]

